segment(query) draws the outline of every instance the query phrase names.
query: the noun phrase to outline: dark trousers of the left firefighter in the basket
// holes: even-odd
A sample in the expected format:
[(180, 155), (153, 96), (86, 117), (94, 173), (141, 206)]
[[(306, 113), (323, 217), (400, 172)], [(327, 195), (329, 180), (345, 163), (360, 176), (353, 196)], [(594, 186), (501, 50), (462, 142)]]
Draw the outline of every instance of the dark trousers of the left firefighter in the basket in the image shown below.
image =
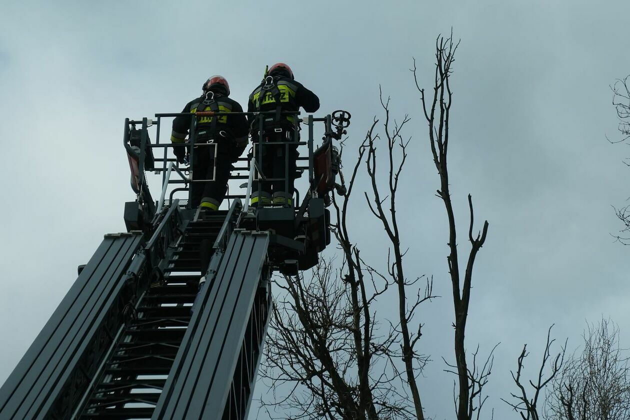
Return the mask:
[(214, 179), (214, 181), (193, 182), (190, 207), (210, 203), (215, 210), (221, 205), (227, 191), (227, 179), (232, 171), (236, 145), (231, 139), (217, 139), (205, 145), (210, 139), (198, 139), (193, 151), (193, 181)]

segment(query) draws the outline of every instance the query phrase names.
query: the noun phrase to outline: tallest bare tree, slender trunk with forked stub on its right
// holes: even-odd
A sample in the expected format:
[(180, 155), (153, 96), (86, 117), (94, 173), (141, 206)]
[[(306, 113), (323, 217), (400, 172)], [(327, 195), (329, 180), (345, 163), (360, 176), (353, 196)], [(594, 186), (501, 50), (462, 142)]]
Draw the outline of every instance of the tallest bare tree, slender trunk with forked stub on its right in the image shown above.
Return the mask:
[(416, 81), (416, 88), (420, 91), (422, 108), (428, 123), (428, 132), (433, 154), (433, 162), (440, 175), (440, 189), (437, 190), (437, 196), (444, 201), (444, 207), (449, 220), (449, 242), (448, 246), (450, 254), (447, 256), (449, 266), (450, 280), (453, 290), (453, 304), (455, 307), (455, 367), (459, 389), (456, 395), (455, 411), (458, 420), (473, 419), (475, 405), (472, 403), (471, 392), (473, 387), (479, 385), (470, 373), (466, 361), (466, 346), (464, 337), (466, 335), (466, 321), (468, 317), (468, 309), (471, 297), (471, 288), (473, 285), (473, 266), (479, 249), (486, 241), (488, 234), (488, 221), (484, 222), (483, 229), (476, 236), (473, 235), (474, 229), (474, 212), (473, 200), (468, 195), (468, 205), (470, 210), (470, 224), (468, 229), (468, 240), (471, 249), (468, 254), (466, 270), (464, 271), (463, 283), (460, 271), (460, 261), (457, 250), (457, 229), (455, 228), (455, 214), (450, 197), (449, 171), (447, 166), (447, 154), (449, 148), (449, 122), (450, 122), (450, 106), (452, 105), (452, 91), (450, 89), (450, 74), (452, 73), (452, 64), (455, 60), (455, 50), (459, 42), (454, 43), (452, 33), (450, 37), (438, 37), (436, 41), (436, 64), (435, 64), (435, 85), (433, 86), (433, 95), (427, 97), (425, 89), (420, 88), (418, 77), (416, 74), (416, 65), (414, 62), (413, 75)]

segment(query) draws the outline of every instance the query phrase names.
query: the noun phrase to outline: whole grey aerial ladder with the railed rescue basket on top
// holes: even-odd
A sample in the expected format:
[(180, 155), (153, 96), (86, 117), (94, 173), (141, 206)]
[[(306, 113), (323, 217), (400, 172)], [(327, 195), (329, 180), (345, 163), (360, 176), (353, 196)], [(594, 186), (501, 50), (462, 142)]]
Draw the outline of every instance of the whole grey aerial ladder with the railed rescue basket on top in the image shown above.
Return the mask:
[[(265, 112), (244, 114), (263, 127)], [(330, 242), (329, 193), (345, 193), (333, 140), (346, 133), (350, 114), (305, 116), (295, 125), (298, 141), (283, 144), (308, 150), (297, 165), (308, 188), (302, 198), (295, 191), (295, 206), (248, 205), (253, 180), (270, 179), (261, 171), (269, 145), (261, 138), (232, 172), (231, 179), (246, 181), (246, 193), (228, 195), (227, 210), (206, 214), (176, 198), (190, 198), (195, 168), (178, 166), (168, 157), (172, 145), (159, 141), (164, 119), (178, 115), (125, 120), (136, 193), (125, 203), (127, 232), (105, 235), (79, 266), (74, 285), (0, 388), (0, 419), (247, 418), (272, 275), (315, 266)], [(186, 115), (194, 145), (198, 115)], [(316, 123), (324, 127), (317, 149)], [(306, 141), (299, 140), (300, 125)], [(161, 175), (159, 200), (147, 172)]]

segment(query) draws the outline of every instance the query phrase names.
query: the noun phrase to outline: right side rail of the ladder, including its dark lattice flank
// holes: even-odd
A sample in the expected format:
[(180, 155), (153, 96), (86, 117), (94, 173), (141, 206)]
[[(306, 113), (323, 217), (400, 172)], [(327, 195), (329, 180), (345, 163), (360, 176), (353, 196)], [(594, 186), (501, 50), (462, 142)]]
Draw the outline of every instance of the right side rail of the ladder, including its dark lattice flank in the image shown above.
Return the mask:
[(268, 232), (235, 231), (215, 253), (152, 419), (246, 418), (272, 304), (268, 246)]

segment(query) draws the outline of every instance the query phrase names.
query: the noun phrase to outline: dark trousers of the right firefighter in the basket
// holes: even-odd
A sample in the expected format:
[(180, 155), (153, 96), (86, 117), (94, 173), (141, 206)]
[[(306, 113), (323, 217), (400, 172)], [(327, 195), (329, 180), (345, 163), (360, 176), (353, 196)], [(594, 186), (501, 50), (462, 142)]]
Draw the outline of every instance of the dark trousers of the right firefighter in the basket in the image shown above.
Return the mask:
[[(254, 135), (254, 147), (256, 156), (259, 156), (258, 136)], [(261, 181), (261, 192), (266, 196), (286, 196), (291, 198), (294, 193), (295, 171), (297, 169), (297, 145), (294, 143), (294, 129), (290, 128), (282, 132), (272, 132), (263, 135), (264, 142), (282, 142), (283, 144), (263, 143), (262, 157), (258, 157), (265, 178), (277, 179), (276, 181)], [(288, 154), (287, 154), (288, 153)], [(288, 166), (287, 166), (288, 164)], [(288, 170), (288, 173), (287, 173)], [(287, 178), (288, 175), (288, 178)], [(252, 183), (252, 193), (258, 193), (258, 181)]]

